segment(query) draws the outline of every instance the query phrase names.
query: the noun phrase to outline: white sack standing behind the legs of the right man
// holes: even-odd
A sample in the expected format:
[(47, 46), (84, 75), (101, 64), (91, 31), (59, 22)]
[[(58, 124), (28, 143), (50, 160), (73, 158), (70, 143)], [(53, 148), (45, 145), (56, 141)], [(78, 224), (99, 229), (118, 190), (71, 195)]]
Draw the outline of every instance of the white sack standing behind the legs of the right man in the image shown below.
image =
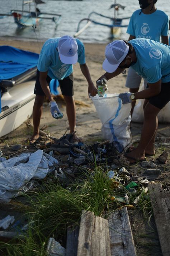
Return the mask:
[[(144, 85), (142, 85), (141, 90), (144, 90)], [(132, 114), (132, 121), (136, 123), (143, 123), (144, 113), (143, 113), (143, 103), (145, 99), (137, 100), (136, 105)], [(166, 104), (166, 106), (161, 109), (158, 116), (158, 121), (160, 123), (170, 123), (170, 102)]]

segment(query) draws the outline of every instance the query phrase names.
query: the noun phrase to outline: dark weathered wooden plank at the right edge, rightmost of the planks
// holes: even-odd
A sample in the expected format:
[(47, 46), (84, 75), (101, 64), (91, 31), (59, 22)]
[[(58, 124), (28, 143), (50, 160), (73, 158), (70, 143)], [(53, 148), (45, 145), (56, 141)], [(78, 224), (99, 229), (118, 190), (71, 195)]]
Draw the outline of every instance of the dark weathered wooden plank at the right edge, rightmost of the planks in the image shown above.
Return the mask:
[(170, 255), (170, 192), (161, 184), (148, 184), (162, 255)]

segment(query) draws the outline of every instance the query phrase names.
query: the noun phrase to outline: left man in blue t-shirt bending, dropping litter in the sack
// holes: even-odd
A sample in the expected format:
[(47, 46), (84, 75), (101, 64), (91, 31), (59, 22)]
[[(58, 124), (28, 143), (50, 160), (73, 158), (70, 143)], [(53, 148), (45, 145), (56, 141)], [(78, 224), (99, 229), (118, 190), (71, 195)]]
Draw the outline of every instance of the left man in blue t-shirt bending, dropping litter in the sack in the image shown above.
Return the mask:
[[(33, 107), (33, 135), (29, 139), (33, 144), (39, 138), (39, 125), (42, 115), (42, 105), (46, 95), (51, 105), (52, 117), (56, 118), (55, 112), (61, 113), (57, 103), (49, 89), (51, 79), (57, 79), (60, 84), (62, 95), (66, 102), (66, 112), (69, 120), (70, 133), (74, 132), (76, 124), (75, 103), (73, 98), (73, 67), (72, 64), (79, 62), (82, 74), (88, 82), (88, 93), (92, 96), (97, 94), (88, 66), (85, 63), (85, 49), (83, 43), (71, 36), (62, 36), (48, 39), (41, 50), (37, 65), (37, 77), (34, 94), (36, 94)], [(74, 134), (74, 139), (77, 140)]]

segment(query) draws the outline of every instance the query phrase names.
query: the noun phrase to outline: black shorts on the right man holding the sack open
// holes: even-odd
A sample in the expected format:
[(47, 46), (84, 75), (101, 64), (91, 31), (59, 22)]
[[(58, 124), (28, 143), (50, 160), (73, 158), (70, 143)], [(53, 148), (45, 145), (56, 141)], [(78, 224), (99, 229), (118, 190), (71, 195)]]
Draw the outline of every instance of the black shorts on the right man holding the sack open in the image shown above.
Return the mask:
[[(147, 88), (148, 87), (149, 86), (147, 84)], [(162, 83), (160, 93), (151, 98), (147, 98), (147, 100), (157, 108), (162, 109), (165, 107), (165, 105), (170, 101), (170, 82)]]

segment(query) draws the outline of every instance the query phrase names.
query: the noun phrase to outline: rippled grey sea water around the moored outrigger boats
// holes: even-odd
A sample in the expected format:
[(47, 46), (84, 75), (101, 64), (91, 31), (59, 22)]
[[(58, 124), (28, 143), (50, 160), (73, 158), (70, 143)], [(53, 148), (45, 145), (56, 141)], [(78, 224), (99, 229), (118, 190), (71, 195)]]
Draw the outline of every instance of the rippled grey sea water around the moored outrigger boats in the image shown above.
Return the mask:
[[(98, 12), (110, 17), (114, 16), (114, 9), (109, 9), (114, 0), (83, 0), (83, 1), (66, 1), (66, 0), (43, 0), (46, 4), (39, 4), (41, 12), (58, 13), (62, 15), (61, 23), (55, 30), (55, 23), (49, 20), (43, 20), (41, 24), (33, 30), (32, 27), (19, 30), (16, 28), (13, 17), (0, 19), (0, 36), (10, 37), (10, 39), (22, 40), (46, 40), (51, 37), (70, 35), (73, 36), (77, 30), (77, 24), (83, 18), (87, 18), (90, 12)], [(126, 8), (119, 11), (118, 17), (130, 17), (134, 10), (139, 9), (138, 0), (117, 0)], [(169, 0), (158, 0), (156, 7), (166, 12), (170, 17)], [(8, 13), (11, 9), (22, 9), (22, 0), (0, 0), (0, 13)], [(102, 17), (93, 16), (95, 21), (110, 24), (110, 20)], [(123, 24), (127, 25), (129, 19), (124, 20)], [(82, 23), (85, 26), (86, 22)], [(128, 39), (127, 28), (122, 28), (121, 38)], [(110, 29), (108, 27), (90, 24), (90, 26), (78, 37), (83, 42), (108, 42)]]

